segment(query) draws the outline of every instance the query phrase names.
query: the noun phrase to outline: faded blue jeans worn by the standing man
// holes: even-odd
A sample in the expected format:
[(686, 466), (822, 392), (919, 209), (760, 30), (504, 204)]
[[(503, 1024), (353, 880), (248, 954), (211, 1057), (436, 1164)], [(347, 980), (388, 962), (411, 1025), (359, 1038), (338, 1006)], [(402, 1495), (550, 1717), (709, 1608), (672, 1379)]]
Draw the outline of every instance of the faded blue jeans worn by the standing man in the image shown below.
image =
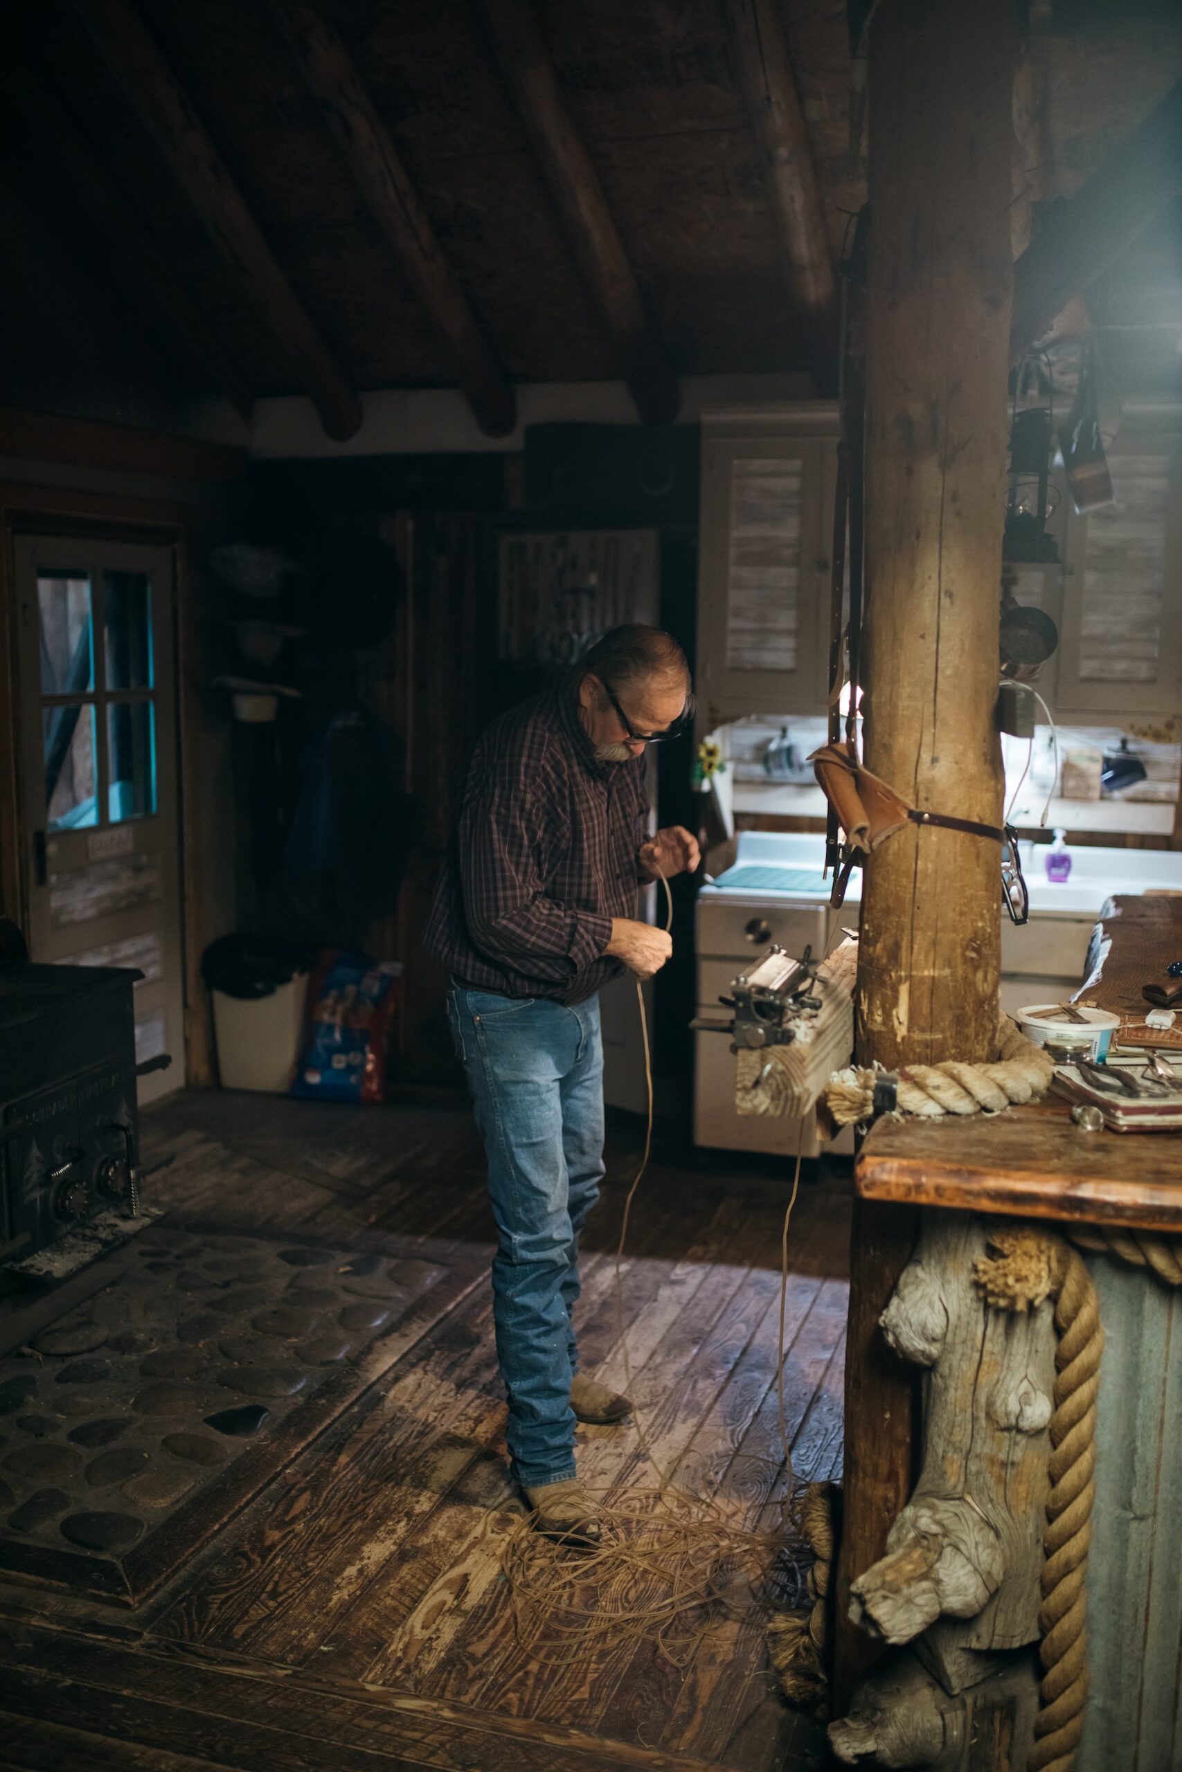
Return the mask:
[(509, 1453), (523, 1488), (540, 1488), (574, 1476), (571, 1313), (579, 1232), (603, 1180), (599, 998), (567, 1008), (457, 987), (447, 1014), (489, 1162)]

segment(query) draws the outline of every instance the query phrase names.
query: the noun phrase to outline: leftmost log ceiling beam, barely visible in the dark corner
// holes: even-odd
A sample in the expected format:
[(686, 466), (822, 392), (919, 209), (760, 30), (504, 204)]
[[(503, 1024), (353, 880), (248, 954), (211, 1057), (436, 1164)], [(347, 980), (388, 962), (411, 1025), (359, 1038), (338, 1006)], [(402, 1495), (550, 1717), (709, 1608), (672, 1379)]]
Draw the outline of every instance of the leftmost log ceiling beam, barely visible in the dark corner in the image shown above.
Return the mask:
[(5, 115), (19, 129), (23, 154), (34, 154), (53, 184), (85, 216), (87, 227), (103, 239), (103, 266), (110, 264), (112, 276), (152, 305), (168, 337), (190, 358), (193, 369), (206, 376), (245, 420), (250, 420), (253, 395), (246, 377), (66, 106), (16, 43), (4, 44), (0, 66)]

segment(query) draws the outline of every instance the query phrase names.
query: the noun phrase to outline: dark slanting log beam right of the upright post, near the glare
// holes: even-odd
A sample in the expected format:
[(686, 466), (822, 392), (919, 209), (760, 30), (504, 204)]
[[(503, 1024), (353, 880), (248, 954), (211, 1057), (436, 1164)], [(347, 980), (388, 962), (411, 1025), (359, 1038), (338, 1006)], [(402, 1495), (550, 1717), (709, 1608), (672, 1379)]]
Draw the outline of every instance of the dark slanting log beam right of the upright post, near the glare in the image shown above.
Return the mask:
[(1010, 365), (1072, 296), (1125, 252), (1182, 191), (1182, 80), (1067, 202), (1049, 207), (1014, 266)]

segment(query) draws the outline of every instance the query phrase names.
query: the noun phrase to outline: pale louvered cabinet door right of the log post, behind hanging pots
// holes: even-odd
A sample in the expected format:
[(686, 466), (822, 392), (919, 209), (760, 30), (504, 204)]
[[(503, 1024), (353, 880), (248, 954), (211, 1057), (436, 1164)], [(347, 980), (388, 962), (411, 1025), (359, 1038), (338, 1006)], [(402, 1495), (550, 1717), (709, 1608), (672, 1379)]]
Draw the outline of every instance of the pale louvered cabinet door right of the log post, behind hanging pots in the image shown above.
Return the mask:
[(1056, 700), (1092, 725), (1178, 711), (1178, 441), (1122, 443), (1113, 503), (1067, 519)]

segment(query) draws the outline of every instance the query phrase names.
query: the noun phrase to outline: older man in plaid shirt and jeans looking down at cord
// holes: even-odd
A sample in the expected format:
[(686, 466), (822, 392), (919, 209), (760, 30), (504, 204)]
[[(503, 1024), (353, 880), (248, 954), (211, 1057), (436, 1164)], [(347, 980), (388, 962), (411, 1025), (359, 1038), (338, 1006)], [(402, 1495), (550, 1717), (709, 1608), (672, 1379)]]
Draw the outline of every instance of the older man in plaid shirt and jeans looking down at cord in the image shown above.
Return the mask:
[(636, 920), (638, 884), (696, 868), (673, 826), (647, 838), (647, 744), (680, 732), (686, 656), (656, 627), (613, 627), (551, 691), (480, 739), (427, 921), (450, 976), (448, 1021), (484, 1136), (500, 1233), (496, 1352), (514, 1476), (537, 1524), (595, 1543), (574, 1423), (620, 1421), (627, 1398), (578, 1372), (578, 1240), (603, 1180), (597, 992), (672, 953)]

